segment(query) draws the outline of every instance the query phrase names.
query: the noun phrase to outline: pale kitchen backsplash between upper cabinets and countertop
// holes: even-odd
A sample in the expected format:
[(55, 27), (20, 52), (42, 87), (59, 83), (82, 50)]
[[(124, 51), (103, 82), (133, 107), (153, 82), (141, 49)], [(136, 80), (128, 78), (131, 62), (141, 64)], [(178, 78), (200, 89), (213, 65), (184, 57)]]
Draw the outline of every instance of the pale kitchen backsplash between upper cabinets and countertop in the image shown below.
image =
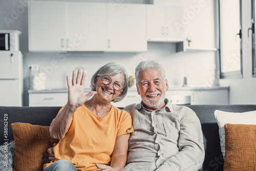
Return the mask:
[(129, 75), (134, 75), (136, 65), (147, 58), (157, 59), (163, 63), (169, 84), (181, 85), (184, 76), (190, 79), (190, 84), (213, 84), (216, 52), (176, 53), (175, 49), (175, 44), (148, 42), (148, 51), (138, 54), (65, 53), (57, 55), (57, 53), (44, 53), (42, 55), (41, 53), (28, 53), (26, 58), (30, 63), (38, 64), (38, 58), (42, 56), (39, 71), (47, 75), (47, 89), (67, 88), (66, 75), (71, 77), (72, 71), (77, 67), (86, 70), (86, 88), (89, 88), (92, 75), (108, 62), (117, 62), (125, 67)]

